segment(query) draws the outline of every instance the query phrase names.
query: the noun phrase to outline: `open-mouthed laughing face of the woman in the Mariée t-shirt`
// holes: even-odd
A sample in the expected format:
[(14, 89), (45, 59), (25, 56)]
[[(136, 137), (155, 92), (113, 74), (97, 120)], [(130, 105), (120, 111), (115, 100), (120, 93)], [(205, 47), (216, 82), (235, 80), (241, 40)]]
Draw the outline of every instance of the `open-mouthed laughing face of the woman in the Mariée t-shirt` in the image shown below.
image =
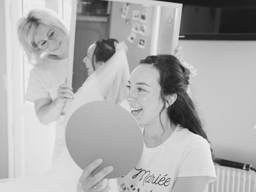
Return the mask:
[(163, 103), (160, 98), (159, 73), (149, 64), (140, 64), (130, 76), (126, 100), (140, 125), (159, 124)]

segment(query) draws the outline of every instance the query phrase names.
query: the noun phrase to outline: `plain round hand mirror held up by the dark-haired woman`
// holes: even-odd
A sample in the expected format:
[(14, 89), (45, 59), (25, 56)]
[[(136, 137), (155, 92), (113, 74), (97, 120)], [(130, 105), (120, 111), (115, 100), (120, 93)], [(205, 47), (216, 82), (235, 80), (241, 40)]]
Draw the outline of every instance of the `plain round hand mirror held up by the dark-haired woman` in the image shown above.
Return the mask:
[(74, 162), (84, 170), (98, 158), (114, 170), (106, 178), (117, 178), (138, 164), (143, 137), (135, 118), (117, 104), (94, 101), (78, 108), (66, 125), (66, 145)]

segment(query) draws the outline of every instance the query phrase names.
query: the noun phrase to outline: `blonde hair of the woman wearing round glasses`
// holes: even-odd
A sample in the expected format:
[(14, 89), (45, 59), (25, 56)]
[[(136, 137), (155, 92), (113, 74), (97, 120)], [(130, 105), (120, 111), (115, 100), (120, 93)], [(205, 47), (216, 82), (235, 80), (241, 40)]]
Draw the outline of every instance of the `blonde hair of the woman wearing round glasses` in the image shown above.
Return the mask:
[(30, 10), (28, 16), (18, 21), (17, 32), (20, 44), (22, 44), (31, 64), (40, 63), (44, 53), (42, 50), (37, 49), (36, 43), (33, 40), (34, 33), (40, 24), (59, 28), (64, 32), (67, 40), (69, 40), (68, 29), (56, 12), (49, 9)]

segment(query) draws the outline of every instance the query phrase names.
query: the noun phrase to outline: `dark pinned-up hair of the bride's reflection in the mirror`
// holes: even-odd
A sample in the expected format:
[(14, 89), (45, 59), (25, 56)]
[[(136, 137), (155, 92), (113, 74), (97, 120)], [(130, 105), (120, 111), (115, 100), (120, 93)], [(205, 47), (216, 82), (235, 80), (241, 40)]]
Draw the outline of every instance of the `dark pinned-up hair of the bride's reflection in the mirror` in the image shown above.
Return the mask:
[[(92, 58), (95, 56), (96, 62), (106, 62), (114, 53), (116, 52), (115, 44), (118, 43), (118, 40), (108, 38), (108, 39), (99, 39), (95, 42), (96, 48), (92, 54)], [(94, 60), (92, 59), (92, 66), (95, 70)]]

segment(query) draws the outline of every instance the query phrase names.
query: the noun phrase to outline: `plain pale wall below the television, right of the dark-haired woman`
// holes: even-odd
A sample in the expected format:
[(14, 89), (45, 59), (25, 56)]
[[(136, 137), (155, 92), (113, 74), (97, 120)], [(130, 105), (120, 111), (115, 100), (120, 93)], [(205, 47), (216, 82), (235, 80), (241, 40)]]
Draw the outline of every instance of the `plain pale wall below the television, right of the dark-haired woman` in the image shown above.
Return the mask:
[(180, 40), (192, 94), (218, 158), (256, 168), (256, 41)]

